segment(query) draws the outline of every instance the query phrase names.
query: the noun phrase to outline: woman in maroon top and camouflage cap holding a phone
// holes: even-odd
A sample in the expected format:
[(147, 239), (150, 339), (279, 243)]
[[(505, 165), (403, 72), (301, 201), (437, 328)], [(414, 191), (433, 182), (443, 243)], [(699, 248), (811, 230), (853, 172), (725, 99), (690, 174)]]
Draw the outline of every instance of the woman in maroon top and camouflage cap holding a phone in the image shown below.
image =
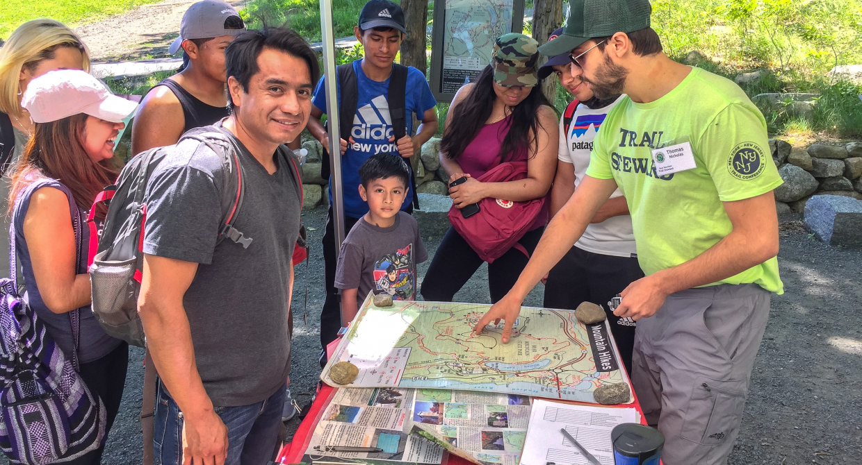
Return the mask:
[[(449, 189), (457, 208), (491, 197), (525, 202), (547, 195), (557, 166), (557, 115), (538, 85), (538, 43), (523, 34), (497, 39), (491, 64), (465, 84), (452, 102), (440, 143), (440, 164), (449, 182), (467, 177)], [(501, 164), (526, 161), (527, 177), (505, 183), (481, 183), (476, 178)], [(547, 211), (519, 241), (532, 253), (545, 229)], [(515, 284), (528, 257), (515, 248), (488, 265), (491, 302)], [(440, 242), (422, 282), (426, 301), (452, 301), (483, 263), (452, 227)]]

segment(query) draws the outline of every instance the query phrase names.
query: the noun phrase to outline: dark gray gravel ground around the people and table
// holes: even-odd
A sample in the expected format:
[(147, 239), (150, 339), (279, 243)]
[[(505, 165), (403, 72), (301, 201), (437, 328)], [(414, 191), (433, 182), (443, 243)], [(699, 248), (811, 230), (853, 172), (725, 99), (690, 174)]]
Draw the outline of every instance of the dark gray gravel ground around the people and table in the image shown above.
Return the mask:
[[(321, 238), (326, 210), (303, 214), (309, 227), (308, 272), (297, 267), (291, 390), (302, 405), (320, 369), (318, 313), (322, 307)], [(784, 219), (784, 220), (792, 220)], [(312, 230), (313, 229), (313, 230)], [(729, 463), (746, 465), (849, 464), (862, 459), (862, 251), (822, 245), (799, 222), (784, 222), (779, 264), (785, 294), (773, 298), (769, 324), (752, 374), (742, 431)], [(427, 238), (429, 255), (440, 238)], [(420, 265), (420, 276), (428, 262)], [(308, 277), (312, 280), (309, 280)], [(303, 310), (305, 288), (308, 307)], [(456, 301), (489, 302), (487, 267)], [(541, 286), (525, 303), (539, 306)], [(303, 315), (308, 323), (303, 323)], [(103, 463), (139, 463), (143, 351), (130, 350), (122, 408)], [(288, 423), (291, 437), (298, 420)], [(0, 463), (7, 463), (5, 459)]]

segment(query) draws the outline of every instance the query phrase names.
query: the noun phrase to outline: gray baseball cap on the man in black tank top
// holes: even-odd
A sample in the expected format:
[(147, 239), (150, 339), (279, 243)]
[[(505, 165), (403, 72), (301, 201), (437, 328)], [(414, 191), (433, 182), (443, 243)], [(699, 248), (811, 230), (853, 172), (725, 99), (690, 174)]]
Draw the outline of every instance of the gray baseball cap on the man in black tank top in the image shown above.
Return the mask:
[(179, 26), (179, 37), (167, 49), (174, 54), (179, 51), (183, 40), (211, 39), (222, 35), (239, 35), (246, 30), (246, 24), (236, 9), (227, 2), (203, 0), (193, 3), (183, 15)]

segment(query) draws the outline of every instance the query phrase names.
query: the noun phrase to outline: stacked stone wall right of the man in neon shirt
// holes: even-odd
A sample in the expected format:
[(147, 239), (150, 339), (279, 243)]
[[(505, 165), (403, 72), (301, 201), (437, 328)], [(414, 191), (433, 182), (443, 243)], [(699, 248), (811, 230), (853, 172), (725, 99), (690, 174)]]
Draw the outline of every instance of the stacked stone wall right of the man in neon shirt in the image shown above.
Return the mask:
[(784, 184), (775, 189), (778, 214), (803, 213), (811, 195), (843, 195), (862, 200), (862, 143), (806, 149), (771, 139), (772, 158)]

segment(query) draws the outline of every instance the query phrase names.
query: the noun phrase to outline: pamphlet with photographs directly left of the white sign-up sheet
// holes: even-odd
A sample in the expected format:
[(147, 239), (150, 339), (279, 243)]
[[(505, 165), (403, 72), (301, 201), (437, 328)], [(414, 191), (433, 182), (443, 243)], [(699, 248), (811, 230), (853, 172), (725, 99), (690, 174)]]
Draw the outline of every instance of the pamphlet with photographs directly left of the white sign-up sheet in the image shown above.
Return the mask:
[(456, 456), (482, 465), (517, 465), (530, 398), (446, 389), (416, 389), (413, 431)]

